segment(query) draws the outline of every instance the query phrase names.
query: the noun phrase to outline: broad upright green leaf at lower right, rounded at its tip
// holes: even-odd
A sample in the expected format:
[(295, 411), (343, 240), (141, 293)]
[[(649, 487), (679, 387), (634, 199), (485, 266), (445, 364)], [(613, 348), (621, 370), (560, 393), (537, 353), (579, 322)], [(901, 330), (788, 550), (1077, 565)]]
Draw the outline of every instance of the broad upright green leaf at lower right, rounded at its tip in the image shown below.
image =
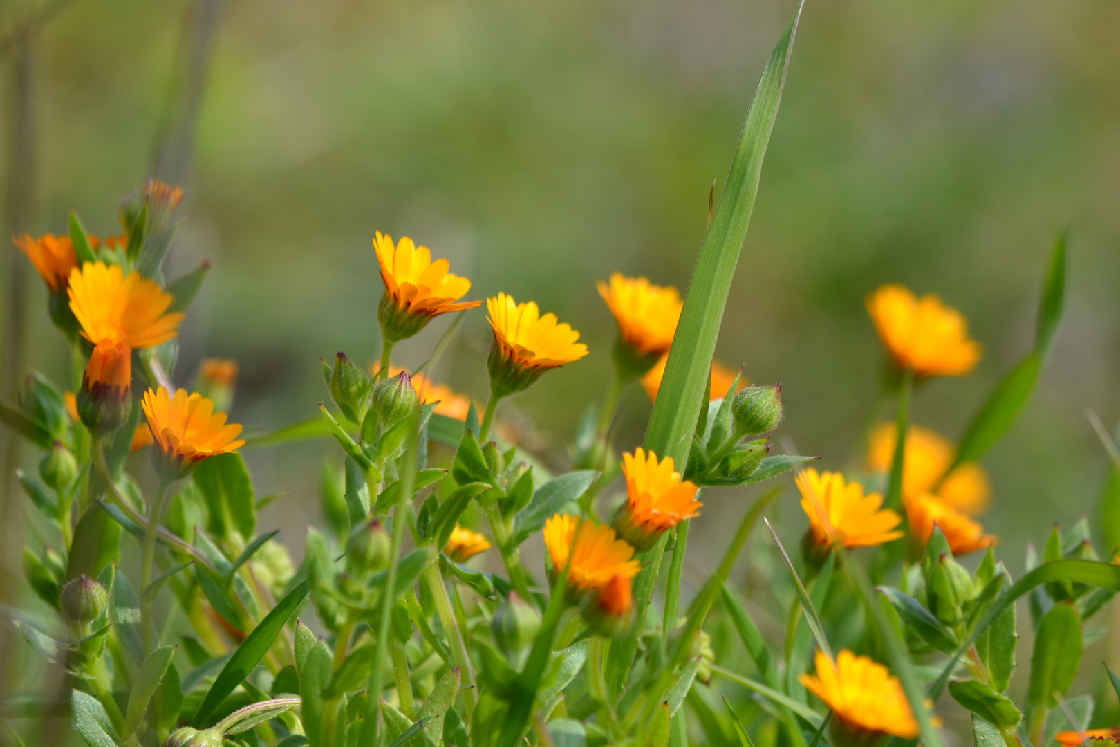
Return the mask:
[[(1032, 741), (1038, 743), (1040, 730), (1054, 697), (1065, 695), (1081, 664), (1081, 617), (1070, 604), (1057, 604), (1043, 617), (1030, 657), (1030, 687), (1027, 691), (1027, 713)], [(998, 726), (998, 725), (997, 725)]]

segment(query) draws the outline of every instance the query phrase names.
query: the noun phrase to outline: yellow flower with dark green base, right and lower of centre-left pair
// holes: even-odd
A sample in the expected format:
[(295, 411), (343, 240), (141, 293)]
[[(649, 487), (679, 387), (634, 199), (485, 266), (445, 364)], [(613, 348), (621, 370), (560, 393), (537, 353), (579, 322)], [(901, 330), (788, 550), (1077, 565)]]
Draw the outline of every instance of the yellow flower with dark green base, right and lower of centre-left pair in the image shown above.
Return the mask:
[(486, 299), (486, 309), (494, 330), (486, 364), (491, 387), (500, 396), (529, 389), (549, 368), (587, 355), (587, 345), (576, 342), (579, 333), (557, 321), (554, 314), (541, 316), (533, 301), (517, 304), (498, 293)]

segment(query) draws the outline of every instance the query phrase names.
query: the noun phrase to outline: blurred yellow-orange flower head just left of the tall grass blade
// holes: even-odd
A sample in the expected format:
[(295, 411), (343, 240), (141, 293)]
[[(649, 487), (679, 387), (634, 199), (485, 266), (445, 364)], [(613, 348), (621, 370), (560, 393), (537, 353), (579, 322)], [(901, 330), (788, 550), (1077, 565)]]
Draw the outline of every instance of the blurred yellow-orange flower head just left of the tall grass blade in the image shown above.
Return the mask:
[(662, 355), (673, 344), (681, 318), (680, 292), (654, 286), (646, 278), (610, 276), (610, 284), (599, 281), (599, 296), (610, 307), (623, 339), (643, 355)]

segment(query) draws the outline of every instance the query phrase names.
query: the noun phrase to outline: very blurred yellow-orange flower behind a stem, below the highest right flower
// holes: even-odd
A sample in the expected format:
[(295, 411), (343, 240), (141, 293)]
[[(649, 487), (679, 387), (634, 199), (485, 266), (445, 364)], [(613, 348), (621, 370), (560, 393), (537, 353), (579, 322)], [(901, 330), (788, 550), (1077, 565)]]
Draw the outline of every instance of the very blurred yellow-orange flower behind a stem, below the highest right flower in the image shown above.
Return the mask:
[[(868, 442), (867, 464), (872, 471), (889, 473), (895, 455), (895, 423), (878, 426)], [(931, 493), (953, 461), (955, 449), (934, 431), (911, 426), (906, 431), (906, 460), (903, 467), (903, 496)], [(991, 485), (988, 473), (976, 461), (960, 465), (942, 482), (936, 497), (969, 515), (988, 506)]]

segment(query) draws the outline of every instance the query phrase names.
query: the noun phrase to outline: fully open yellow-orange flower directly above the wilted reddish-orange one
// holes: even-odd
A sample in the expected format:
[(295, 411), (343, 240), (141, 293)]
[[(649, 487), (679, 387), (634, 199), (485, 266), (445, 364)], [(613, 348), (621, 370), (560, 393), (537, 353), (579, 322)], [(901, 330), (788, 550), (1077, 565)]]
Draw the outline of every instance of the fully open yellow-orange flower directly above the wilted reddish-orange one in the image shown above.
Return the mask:
[(82, 335), (94, 345), (152, 347), (175, 337), (183, 321), (183, 314), (167, 311), (175, 299), (159, 283), (136, 271), (125, 277), (116, 264), (86, 262), (73, 269), (68, 293)]

